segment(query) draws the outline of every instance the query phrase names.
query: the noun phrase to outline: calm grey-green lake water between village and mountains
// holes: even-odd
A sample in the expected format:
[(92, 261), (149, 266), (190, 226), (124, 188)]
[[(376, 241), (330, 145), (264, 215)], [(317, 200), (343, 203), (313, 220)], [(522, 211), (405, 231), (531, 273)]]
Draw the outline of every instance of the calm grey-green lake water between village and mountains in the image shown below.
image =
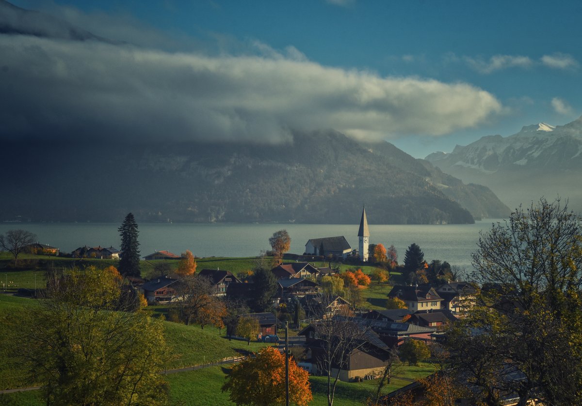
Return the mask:
[[(498, 220), (483, 220), (463, 225), (374, 225), (370, 242), (398, 250), (402, 263), (411, 243), (424, 252), (424, 259), (448, 261), (471, 269), (471, 253), (476, 250), (481, 230), (488, 231)], [(0, 223), (0, 233), (22, 228), (37, 235), (38, 242), (70, 252), (80, 246), (113, 246), (119, 249), (120, 224), (109, 223)], [(269, 237), (286, 229), (291, 237), (291, 253), (302, 254), (310, 238), (343, 235), (357, 248), (359, 225), (339, 224), (139, 224), (141, 256), (155, 250), (175, 254), (191, 250), (198, 257), (256, 256), (269, 249)]]

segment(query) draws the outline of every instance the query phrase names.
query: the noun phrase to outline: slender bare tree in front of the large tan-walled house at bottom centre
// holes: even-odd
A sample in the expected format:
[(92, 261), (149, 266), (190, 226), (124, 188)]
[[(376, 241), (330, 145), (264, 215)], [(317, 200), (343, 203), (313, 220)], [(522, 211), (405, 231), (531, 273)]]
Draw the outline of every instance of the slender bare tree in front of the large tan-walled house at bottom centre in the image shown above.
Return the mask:
[(318, 317), (318, 321), (311, 324), (314, 333), (311, 357), (318, 371), (327, 376), (328, 406), (333, 405), (340, 371), (347, 368), (350, 354), (365, 343), (369, 330), (369, 325), (350, 317), (350, 310), (345, 306), (336, 309), (335, 299), (319, 294), (307, 305), (311, 314)]

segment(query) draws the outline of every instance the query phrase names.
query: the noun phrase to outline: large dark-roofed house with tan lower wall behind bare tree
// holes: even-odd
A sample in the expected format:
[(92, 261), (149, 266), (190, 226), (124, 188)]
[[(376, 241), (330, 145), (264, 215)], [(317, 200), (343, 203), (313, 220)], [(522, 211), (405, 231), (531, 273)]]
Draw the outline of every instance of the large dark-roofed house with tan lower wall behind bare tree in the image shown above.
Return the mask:
[[(341, 322), (341, 321), (338, 321)], [(351, 323), (352, 321), (343, 321)], [(308, 368), (314, 374), (324, 373), (319, 371), (321, 360), (324, 359), (326, 343), (320, 337), (321, 330), (317, 331), (317, 324), (311, 324), (301, 330), (299, 335), (306, 337)], [(344, 382), (352, 382), (357, 379), (376, 378), (382, 369), (388, 365), (390, 347), (387, 346), (372, 330), (367, 330), (361, 339), (354, 340), (351, 348), (346, 348), (344, 353), (346, 362), (339, 365), (332, 363), (332, 375), (339, 372), (339, 379)]]

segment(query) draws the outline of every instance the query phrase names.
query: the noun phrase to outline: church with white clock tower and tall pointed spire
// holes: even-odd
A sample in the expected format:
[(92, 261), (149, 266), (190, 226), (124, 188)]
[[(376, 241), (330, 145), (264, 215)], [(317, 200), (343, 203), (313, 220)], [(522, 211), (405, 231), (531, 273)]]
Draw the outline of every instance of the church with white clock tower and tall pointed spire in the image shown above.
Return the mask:
[[(358, 255), (360, 261), (368, 260), (368, 246), (370, 245), (370, 230), (365, 215), (365, 207), (362, 210), (360, 229), (358, 231)], [(346, 259), (353, 253), (352, 247), (343, 235), (336, 237), (312, 238), (305, 245), (306, 255), (318, 255), (324, 257), (336, 257)]]

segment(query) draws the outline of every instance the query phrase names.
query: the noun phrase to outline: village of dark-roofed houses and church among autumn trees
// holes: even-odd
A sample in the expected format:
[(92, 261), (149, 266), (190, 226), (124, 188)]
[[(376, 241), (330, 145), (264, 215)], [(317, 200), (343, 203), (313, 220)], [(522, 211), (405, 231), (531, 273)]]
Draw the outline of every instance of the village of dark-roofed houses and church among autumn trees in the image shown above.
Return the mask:
[[(351, 383), (379, 378), (390, 382), (398, 374), (395, 357), (410, 365), (429, 360), (431, 344), (442, 341), (446, 326), (474, 303), (476, 290), (469, 282), (453, 280), (446, 262), (433, 261), (429, 267), (414, 244), (407, 252), (407, 261), (416, 269), (410, 273), (411, 283), (406, 283), (402, 270), (396, 268), (395, 253), (389, 260), (381, 244), (370, 248), (365, 208), (357, 236), (357, 249), (344, 236), (309, 239), (303, 254), (284, 253), (283, 247), (278, 253), (268, 253), (273, 256), (272, 262), (263, 258), (254, 272), (246, 273), (219, 267), (200, 270), (196, 260), (201, 258), (189, 251), (180, 256), (159, 250), (142, 260), (155, 264), (150, 278), (124, 275), (126, 289), (141, 296), (148, 308), (164, 312), (169, 321), (200, 324), (202, 328), (225, 327), (229, 339), (249, 344), (274, 343), (283, 351), (285, 326), (290, 325), (293, 331), (287, 344), (293, 348), (297, 365), (310, 375), (328, 375), (332, 380)], [(277, 232), (272, 247), (275, 250), (281, 243), (285, 246), (288, 239), (284, 230)], [(23, 251), (59, 255), (58, 248), (37, 242), (23, 247)], [(112, 246), (83, 246), (66, 256), (82, 264), (87, 260), (119, 260), (120, 253)], [(176, 261), (178, 267), (174, 266)], [(185, 271), (180, 271), (187, 263)], [(345, 264), (343, 270), (338, 264)], [(370, 265), (374, 267), (371, 272)], [(367, 269), (368, 274), (360, 268)], [(258, 275), (267, 275), (271, 286), (257, 283)], [(368, 290), (386, 285), (389, 289), (381, 293), (385, 299), (374, 299), (380, 306), (363, 306), (369, 304), (363, 299)], [(267, 297), (261, 297), (262, 303), (257, 304), (253, 298), (265, 293), (261, 288), (267, 291)], [(36, 289), (33, 293), (19, 289), (19, 293), (37, 296)], [(326, 330), (330, 323), (334, 328)], [(338, 357), (335, 352), (329, 357), (326, 346), (342, 354)], [(422, 385), (417, 381), (409, 386), (415, 398), (423, 397), (419, 391)], [(385, 404), (391, 396), (402, 396), (406, 391), (404, 387), (394, 395), (382, 393), (382, 398), (378, 391), (376, 401)]]

